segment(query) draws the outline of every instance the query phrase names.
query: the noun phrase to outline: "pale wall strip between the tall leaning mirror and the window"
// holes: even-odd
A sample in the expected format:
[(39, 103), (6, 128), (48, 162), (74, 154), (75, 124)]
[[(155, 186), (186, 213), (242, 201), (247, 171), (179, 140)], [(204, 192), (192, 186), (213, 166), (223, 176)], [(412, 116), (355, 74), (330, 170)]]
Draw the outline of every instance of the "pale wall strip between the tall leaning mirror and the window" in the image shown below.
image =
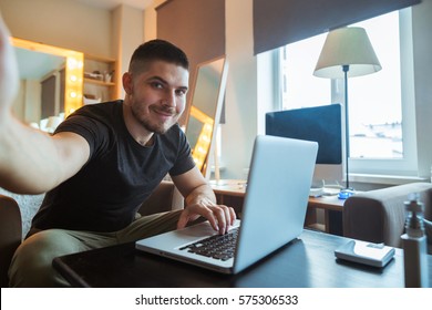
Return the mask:
[(257, 134), (257, 61), (254, 56), (253, 1), (225, 2), (229, 62), (222, 128), (223, 178), (245, 178)]

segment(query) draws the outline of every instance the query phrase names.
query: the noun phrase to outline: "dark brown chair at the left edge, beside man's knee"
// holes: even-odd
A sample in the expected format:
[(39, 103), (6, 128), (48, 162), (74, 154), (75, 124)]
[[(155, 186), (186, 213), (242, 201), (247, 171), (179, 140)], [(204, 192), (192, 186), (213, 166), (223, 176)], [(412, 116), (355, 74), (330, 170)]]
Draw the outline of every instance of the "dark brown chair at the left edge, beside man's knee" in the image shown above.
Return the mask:
[(8, 269), (22, 241), (21, 213), (17, 202), (0, 195), (0, 287), (9, 283)]

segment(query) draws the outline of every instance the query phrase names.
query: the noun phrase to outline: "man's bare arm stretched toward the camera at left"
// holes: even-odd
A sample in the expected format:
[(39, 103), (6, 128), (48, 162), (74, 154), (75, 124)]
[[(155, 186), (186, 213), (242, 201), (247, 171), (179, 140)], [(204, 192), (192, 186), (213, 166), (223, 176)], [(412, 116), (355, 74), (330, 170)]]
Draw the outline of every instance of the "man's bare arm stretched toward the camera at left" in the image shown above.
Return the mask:
[(43, 193), (74, 175), (88, 161), (90, 147), (80, 135), (50, 136), (13, 117), (18, 76), (9, 30), (0, 16), (0, 187)]

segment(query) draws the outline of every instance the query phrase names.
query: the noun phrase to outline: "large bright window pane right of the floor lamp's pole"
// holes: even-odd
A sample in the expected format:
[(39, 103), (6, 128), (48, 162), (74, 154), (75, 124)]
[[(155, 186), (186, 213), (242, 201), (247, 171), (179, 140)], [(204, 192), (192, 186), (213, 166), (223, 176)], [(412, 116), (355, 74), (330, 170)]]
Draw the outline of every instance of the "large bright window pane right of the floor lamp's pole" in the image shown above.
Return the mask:
[(348, 82), (350, 155), (402, 158), (399, 14), (389, 13), (356, 25), (367, 30), (382, 70)]

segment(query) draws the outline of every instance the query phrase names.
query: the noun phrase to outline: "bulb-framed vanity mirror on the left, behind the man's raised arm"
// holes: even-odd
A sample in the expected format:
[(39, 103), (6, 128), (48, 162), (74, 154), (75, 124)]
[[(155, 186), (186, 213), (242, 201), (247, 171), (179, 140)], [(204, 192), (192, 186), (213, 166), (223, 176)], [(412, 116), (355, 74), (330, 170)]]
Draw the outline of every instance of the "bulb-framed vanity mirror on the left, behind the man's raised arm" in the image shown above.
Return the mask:
[(82, 105), (83, 53), (12, 38), (20, 73), (16, 116), (52, 132)]

